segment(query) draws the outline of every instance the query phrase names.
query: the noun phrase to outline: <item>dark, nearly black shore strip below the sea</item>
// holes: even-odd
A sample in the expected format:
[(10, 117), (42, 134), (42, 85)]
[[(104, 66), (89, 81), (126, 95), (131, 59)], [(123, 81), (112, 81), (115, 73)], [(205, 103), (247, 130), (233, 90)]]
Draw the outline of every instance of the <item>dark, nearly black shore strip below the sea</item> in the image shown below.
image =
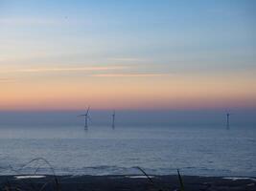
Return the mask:
[[(131, 177), (131, 178), (130, 178)], [(133, 178), (132, 178), (133, 177)], [(0, 176), (0, 190), (61, 190), (61, 191), (143, 191), (178, 190), (176, 175), (152, 176), (150, 180), (127, 176), (45, 176), (37, 179), (16, 179), (15, 176)], [(223, 177), (182, 176), (185, 191), (199, 190), (256, 190), (256, 179), (223, 179)], [(42, 189), (42, 186), (43, 189)]]

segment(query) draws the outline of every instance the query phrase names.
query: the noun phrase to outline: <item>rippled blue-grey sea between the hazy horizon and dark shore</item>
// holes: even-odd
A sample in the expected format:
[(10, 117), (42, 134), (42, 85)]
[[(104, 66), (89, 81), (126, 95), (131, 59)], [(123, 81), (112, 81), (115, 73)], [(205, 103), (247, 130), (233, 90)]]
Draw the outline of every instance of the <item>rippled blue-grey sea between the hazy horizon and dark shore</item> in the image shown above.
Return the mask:
[[(0, 126), (0, 175), (256, 176), (256, 128)], [(27, 164), (27, 165), (25, 165)]]

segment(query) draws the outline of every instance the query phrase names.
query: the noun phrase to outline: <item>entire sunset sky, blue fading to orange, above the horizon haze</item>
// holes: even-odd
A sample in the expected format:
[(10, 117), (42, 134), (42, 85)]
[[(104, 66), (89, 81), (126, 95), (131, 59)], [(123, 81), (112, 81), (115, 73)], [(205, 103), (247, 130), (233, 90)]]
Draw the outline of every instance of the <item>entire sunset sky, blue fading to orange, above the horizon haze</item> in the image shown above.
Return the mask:
[(0, 112), (255, 111), (255, 9), (0, 0)]

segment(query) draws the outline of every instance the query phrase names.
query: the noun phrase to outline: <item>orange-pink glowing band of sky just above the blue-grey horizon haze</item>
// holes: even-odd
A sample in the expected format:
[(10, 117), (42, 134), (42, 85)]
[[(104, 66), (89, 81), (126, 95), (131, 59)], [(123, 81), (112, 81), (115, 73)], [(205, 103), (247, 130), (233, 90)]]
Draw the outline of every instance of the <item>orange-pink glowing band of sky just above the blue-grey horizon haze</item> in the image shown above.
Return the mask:
[[(228, 79), (228, 80), (227, 80)], [(256, 107), (254, 78), (155, 75), (42, 77), (0, 83), (0, 110)]]

